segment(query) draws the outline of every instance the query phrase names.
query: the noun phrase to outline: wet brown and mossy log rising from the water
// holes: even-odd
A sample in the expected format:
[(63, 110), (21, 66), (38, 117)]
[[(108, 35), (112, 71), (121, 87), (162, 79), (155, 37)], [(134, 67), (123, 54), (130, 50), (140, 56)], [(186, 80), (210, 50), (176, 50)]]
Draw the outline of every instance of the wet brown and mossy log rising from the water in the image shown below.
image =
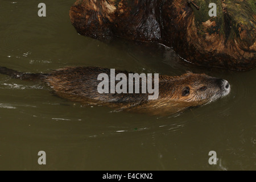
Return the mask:
[[(216, 3), (217, 16), (209, 16)], [(255, 0), (77, 0), (81, 35), (162, 43), (197, 65), (245, 71), (256, 65)]]

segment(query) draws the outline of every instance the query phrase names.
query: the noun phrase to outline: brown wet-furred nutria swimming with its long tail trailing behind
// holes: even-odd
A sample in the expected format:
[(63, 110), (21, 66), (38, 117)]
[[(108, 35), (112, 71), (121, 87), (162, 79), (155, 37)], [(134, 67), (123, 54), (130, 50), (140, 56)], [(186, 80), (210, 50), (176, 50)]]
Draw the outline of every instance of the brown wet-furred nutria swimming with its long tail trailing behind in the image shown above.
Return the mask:
[[(110, 69), (67, 67), (51, 73), (22, 73), (0, 67), (0, 73), (21, 80), (46, 82), (57, 96), (88, 105), (105, 105), (117, 110), (154, 115), (174, 114), (188, 107), (207, 104), (230, 92), (228, 81), (205, 74), (185, 73), (181, 76), (159, 75), (159, 96), (148, 100), (148, 93), (99, 93), (98, 75), (110, 75)], [(129, 72), (115, 71), (125, 73)]]

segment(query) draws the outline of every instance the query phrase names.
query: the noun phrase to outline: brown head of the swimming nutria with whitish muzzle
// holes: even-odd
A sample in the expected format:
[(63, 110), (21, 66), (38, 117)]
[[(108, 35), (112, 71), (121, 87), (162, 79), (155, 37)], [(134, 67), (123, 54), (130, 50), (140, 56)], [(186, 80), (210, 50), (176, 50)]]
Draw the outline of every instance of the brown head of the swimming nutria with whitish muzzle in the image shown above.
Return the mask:
[(179, 101), (206, 104), (230, 92), (228, 81), (205, 74), (186, 73), (174, 77), (171, 82), (175, 85), (171, 97)]

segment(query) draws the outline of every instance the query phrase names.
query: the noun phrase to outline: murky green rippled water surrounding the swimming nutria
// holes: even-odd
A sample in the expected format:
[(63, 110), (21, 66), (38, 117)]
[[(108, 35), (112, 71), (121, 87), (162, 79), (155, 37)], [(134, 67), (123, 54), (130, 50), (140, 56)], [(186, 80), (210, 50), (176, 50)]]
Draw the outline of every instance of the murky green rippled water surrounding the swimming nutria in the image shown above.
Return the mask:
[[(171, 50), (80, 36), (69, 22), (75, 0), (1, 0), (0, 65), (49, 72), (92, 65), (225, 78), (228, 97), (171, 117), (113, 113), (56, 97), (47, 86), (0, 75), (0, 169), (233, 170), (256, 169), (256, 69), (231, 72), (187, 67)], [(46, 152), (45, 166), (38, 152)], [(216, 151), (217, 164), (208, 163)]]

